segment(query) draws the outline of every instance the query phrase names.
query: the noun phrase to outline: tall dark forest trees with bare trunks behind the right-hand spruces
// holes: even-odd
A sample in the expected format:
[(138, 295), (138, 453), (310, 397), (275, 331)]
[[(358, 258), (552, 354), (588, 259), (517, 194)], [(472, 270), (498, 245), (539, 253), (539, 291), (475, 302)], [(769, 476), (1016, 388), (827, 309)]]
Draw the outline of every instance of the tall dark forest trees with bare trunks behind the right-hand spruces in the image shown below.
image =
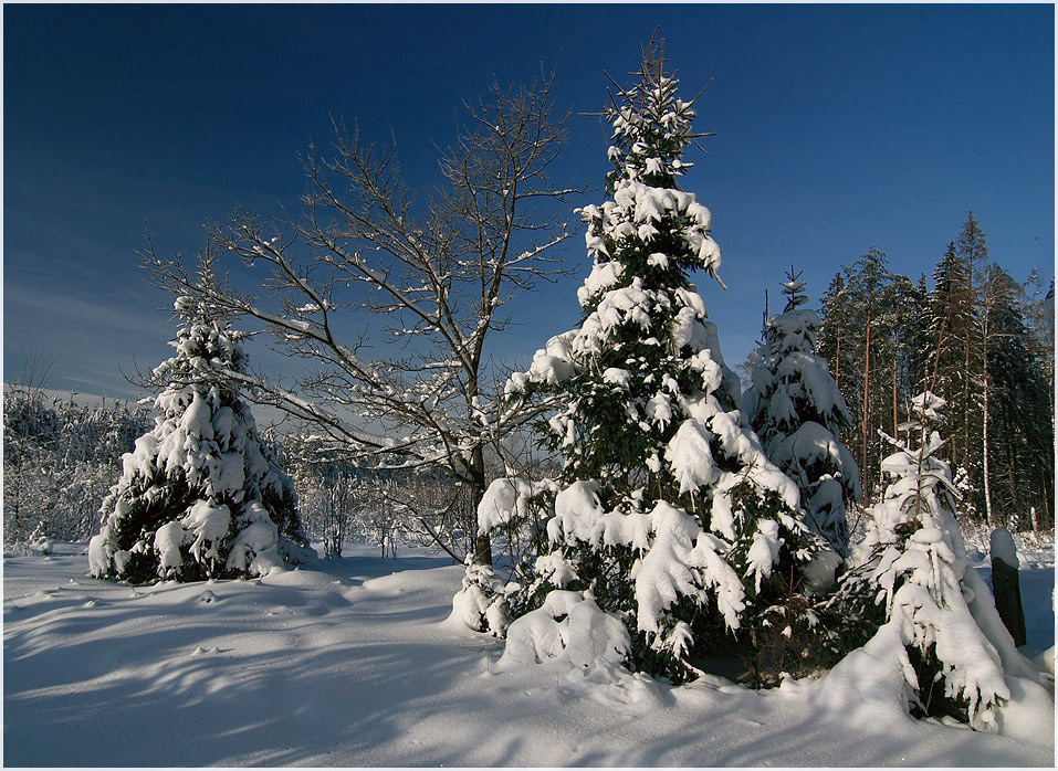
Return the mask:
[[(1017, 529), (1054, 527), (1055, 298), (1036, 271), (1019, 283), (993, 262), (970, 212), (928, 288), (889, 270), (872, 247), (834, 276), (820, 300), (818, 353), (830, 365), (852, 427), (841, 439), (866, 498), (881, 489), (883, 431), (897, 435), (911, 397), (947, 401), (942, 451), (960, 514)], [(1035, 519), (1034, 513), (1035, 511)]]

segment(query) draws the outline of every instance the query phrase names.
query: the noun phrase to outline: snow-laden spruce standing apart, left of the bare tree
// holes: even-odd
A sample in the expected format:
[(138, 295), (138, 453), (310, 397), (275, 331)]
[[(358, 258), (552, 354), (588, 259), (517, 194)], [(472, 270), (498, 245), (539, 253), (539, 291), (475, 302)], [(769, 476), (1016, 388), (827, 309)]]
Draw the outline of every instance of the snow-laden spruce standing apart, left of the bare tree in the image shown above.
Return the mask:
[[(201, 281), (211, 281), (210, 276)], [(155, 427), (127, 453), (88, 547), (92, 574), (145, 583), (260, 575), (312, 556), (294, 485), (258, 436), (250, 409), (226, 384), (243, 372), (243, 332), (207, 303), (181, 297), (176, 356), (151, 382)]]

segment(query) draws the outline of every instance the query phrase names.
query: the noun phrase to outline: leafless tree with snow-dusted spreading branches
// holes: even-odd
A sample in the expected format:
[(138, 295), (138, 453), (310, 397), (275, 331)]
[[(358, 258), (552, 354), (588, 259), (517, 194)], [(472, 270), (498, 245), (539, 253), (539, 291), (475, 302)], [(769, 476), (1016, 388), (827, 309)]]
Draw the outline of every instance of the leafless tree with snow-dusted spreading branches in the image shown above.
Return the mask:
[[(579, 192), (548, 178), (566, 123), (553, 109), (553, 83), (495, 85), (467, 103), (422, 202), (402, 181), (396, 147), (336, 120), (332, 152), (310, 146), (303, 158), (300, 215), (240, 209), (209, 230), (200, 261), (219, 272), (241, 258), (260, 276), (260, 294), (196, 288), (179, 260), (149, 250), (154, 278), (175, 294), (207, 292), (306, 361), (290, 387), (229, 374), (305, 423), (323, 452), (439, 467), (453, 496), (469, 488), (476, 501), (486, 447), (502, 452), (504, 434), (527, 419), (495, 398), (486, 341), (510, 324), (515, 295), (561, 272), (555, 251), (572, 233), (557, 203)], [(486, 537), (473, 551), (491, 562)]]

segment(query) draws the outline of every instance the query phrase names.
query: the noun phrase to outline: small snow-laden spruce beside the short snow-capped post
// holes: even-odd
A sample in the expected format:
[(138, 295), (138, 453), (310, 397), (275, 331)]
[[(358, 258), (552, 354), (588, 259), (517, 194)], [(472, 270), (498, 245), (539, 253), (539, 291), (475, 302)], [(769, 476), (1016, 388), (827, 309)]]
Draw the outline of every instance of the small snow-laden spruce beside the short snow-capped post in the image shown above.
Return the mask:
[(907, 439), (883, 435), (897, 450), (882, 462), (892, 482), (828, 601), (835, 625), (825, 626), (844, 652), (866, 644), (898, 659), (912, 714), (995, 730), (996, 707), (1010, 696), (1004, 667), (1026, 673), (991, 592), (967, 566), (951, 467), (937, 457), (944, 442), (931, 431), (944, 404), (919, 394), (900, 426)]

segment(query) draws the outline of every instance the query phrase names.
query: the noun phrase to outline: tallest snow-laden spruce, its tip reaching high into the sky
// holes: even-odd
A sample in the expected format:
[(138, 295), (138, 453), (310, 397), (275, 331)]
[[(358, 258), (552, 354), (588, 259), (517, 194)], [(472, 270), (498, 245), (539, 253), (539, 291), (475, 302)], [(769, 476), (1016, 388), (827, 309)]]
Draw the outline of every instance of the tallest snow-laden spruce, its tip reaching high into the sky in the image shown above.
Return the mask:
[[(507, 387), (552, 400), (544, 441), (564, 466), (555, 492), (538, 493), (553, 495), (548, 546), (504, 598), (521, 616), (505, 656), (601, 657), (682, 680), (696, 656), (738, 652), (764, 682), (794, 668), (804, 571), (823, 545), (738, 411), (737, 377), (688, 277), (716, 277), (721, 262), (709, 209), (678, 184), (702, 136), (694, 101), (678, 98), (653, 46), (640, 75), (606, 110), (610, 200), (580, 212), (594, 257), (584, 321)], [(510, 508), (479, 509), (482, 528)]]

